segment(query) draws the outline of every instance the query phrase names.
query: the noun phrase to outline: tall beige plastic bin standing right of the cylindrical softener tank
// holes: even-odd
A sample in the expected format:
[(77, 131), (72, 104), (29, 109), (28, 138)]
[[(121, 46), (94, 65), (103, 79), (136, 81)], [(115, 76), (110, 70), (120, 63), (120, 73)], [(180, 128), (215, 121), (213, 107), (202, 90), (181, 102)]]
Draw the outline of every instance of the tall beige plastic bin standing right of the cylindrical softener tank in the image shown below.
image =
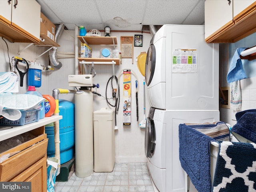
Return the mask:
[(94, 172), (112, 172), (115, 164), (114, 110), (93, 112)]

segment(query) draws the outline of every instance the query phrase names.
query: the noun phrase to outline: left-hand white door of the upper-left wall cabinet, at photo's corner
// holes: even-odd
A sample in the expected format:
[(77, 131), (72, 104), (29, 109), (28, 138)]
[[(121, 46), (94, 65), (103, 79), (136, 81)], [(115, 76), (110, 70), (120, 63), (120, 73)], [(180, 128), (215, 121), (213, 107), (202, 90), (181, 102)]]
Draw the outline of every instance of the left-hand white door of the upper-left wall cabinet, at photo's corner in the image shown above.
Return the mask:
[(0, 20), (6, 24), (11, 24), (12, 19), (12, 1), (8, 4), (7, 0), (0, 0)]

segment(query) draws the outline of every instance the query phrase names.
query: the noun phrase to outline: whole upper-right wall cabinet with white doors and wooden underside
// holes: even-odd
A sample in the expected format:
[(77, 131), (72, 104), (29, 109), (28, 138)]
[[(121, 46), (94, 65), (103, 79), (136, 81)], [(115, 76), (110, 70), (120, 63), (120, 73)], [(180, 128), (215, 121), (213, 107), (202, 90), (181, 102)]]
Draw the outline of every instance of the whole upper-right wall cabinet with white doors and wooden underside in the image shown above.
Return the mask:
[(256, 32), (256, 1), (206, 0), (205, 41), (234, 43)]

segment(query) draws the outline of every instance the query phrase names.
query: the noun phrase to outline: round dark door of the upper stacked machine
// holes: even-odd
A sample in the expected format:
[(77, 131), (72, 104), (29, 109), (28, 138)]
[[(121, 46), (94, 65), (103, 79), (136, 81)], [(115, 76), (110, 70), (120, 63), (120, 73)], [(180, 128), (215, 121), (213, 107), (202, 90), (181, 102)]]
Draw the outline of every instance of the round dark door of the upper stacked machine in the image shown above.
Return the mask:
[(146, 67), (145, 67), (145, 81), (147, 86), (149, 86), (155, 71), (156, 66), (156, 48), (154, 44), (150, 44), (148, 48)]

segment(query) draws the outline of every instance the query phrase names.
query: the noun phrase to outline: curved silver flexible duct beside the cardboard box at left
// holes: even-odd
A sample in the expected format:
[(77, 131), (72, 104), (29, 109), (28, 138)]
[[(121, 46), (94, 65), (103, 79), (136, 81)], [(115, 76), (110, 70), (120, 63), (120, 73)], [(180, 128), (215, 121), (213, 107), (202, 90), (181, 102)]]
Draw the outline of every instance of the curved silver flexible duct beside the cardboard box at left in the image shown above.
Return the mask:
[[(60, 40), (60, 35), (62, 34), (64, 30), (64, 24), (59, 24), (58, 26), (56, 26), (56, 30), (55, 30), (55, 42), (58, 43)], [(58, 61), (57, 58), (57, 52), (58, 49), (57, 47), (53, 47), (53, 49), (51, 49), (49, 51), (49, 58), (50, 58), (50, 62), (51, 64), (56, 67), (57, 69), (62, 67), (62, 63), (60, 61)]]

